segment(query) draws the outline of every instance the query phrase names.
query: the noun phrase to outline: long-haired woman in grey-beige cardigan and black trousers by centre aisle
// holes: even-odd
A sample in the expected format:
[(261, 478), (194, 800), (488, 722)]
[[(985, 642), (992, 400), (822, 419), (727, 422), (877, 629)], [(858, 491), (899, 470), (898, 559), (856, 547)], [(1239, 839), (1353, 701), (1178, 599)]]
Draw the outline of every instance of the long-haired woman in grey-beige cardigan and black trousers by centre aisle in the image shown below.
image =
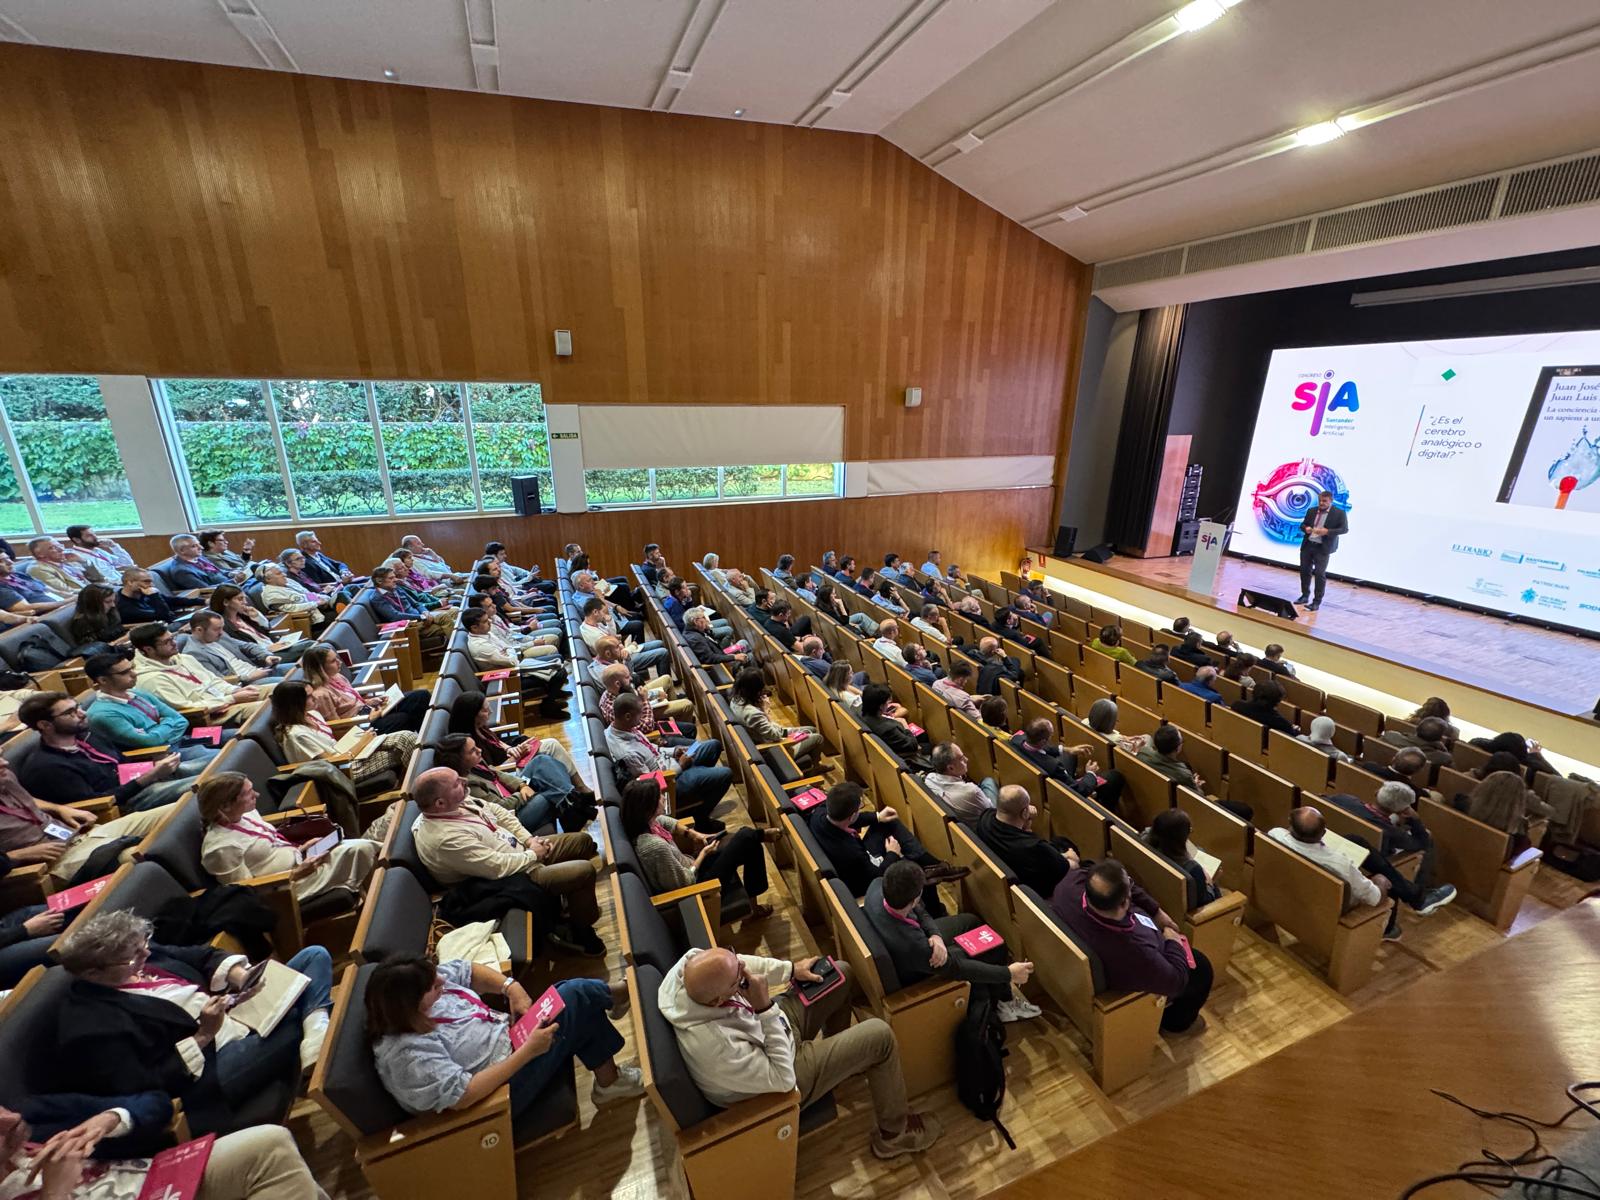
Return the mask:
[(760, 902), (766, 894), (763, 842), (774, 842), (778, 830), (741, 826), (712, 837), (680, 826), (666, 814), (666, 790), (651, 778), (635, 779), (622, 789), (622, 832), (638, 854), (651, 894), (720, 880), (725, 890), (742, 886), (749, 894), (747, 920), (771, 917), (773, 906)]

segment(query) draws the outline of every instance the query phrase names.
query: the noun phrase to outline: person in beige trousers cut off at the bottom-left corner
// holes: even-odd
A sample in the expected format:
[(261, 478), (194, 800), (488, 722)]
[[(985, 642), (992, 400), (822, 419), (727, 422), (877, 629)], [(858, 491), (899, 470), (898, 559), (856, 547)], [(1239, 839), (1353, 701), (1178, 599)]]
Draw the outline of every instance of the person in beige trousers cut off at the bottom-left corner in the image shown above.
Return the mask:
[[(133, 1154), (146, 1142), (160, 1144), (171, 1123), (171, 1101), (158, 1091), (30, 1096), (22, 1101), (22, 1112), (0, 1107), (0, 1197), (157, 1195), (154, 1187), (146, 1190), (150, 1160)], [(123, 1138), (134, 1141), (118, 1141)], [(178, 1189), (163, 1189), (160, 1195), (176, 1197)], [(328, 1200), (301, 1158), (294, 1134), (275, 1125), (251, 1125), (211, 1142), (194, 1195), (203, 1200)]]

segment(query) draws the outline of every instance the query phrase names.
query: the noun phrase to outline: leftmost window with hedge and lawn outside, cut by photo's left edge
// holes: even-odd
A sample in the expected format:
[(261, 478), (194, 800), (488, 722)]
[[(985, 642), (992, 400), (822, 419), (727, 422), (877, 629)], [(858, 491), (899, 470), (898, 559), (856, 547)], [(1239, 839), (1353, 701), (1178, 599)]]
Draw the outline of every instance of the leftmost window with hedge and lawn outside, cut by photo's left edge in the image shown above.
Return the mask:
[(138, 530), (139, 510), (94, 376), (0, 376), (0, 533)]

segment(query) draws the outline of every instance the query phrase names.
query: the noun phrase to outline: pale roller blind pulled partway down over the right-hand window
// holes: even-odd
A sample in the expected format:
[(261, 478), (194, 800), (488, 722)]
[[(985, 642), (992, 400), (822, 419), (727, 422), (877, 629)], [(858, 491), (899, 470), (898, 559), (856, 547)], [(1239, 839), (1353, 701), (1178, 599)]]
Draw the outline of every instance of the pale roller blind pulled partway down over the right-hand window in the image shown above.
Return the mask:
[(838, 405), (582, 405), (584, 467), (840, 462)]

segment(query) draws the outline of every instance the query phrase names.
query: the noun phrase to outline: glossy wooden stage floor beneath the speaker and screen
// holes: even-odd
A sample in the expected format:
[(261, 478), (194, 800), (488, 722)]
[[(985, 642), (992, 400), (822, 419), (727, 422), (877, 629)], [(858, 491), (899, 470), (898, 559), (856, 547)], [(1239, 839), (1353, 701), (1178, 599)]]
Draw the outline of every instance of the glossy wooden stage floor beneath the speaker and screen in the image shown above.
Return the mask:
[[(1141, 581), (1187, 587), (1190, 562), (1187, 557), (1118, 555), (1107, 566)], [(1272, 563), (1224, 558), (1213, 603), (1235, 611), (1242, 587), (1293, 600), (1299, 595), (1299, 573)], [(1192, 616), (1202, 627), (1208, 626), (1200, 613)], [(1323, 640), (1374, 651), (1557, 712), (1592, 712), (1600, 696), (1600, 640), (1595, 638), (1338, 579), (1328, 581), (1322, 608), (1301, 611), (1296, 624)]]

